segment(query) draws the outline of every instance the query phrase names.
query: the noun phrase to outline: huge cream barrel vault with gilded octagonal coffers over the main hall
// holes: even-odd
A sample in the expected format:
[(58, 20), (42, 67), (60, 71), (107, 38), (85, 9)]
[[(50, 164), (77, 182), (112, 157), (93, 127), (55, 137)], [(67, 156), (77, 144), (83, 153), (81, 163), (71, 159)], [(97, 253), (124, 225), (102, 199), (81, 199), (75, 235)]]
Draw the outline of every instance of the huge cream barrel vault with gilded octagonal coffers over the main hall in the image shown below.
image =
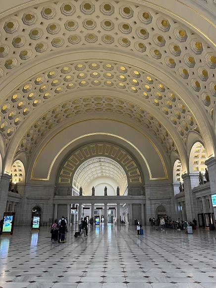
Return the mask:
[(196, 27), (141, 1), (15, 10), (0, 21), (4, 171), (21, 154), (30, 165), (65, 126), (102, 116), (142, 131), (166, 161), (173, 152), (184, 172), (189, 134), (215, 153), (216, 53)]

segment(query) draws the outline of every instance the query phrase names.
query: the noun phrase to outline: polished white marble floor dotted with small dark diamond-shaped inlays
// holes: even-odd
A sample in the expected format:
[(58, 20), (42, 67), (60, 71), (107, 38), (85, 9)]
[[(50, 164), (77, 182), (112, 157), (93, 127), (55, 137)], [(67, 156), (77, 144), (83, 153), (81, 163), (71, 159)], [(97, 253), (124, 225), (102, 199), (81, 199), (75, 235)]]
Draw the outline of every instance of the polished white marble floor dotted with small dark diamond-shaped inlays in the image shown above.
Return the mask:
[(64, 244), (50, 228), (15, 227), (0, 238), (3, 288), (216, 288), (216, 231), (94, 227)]

